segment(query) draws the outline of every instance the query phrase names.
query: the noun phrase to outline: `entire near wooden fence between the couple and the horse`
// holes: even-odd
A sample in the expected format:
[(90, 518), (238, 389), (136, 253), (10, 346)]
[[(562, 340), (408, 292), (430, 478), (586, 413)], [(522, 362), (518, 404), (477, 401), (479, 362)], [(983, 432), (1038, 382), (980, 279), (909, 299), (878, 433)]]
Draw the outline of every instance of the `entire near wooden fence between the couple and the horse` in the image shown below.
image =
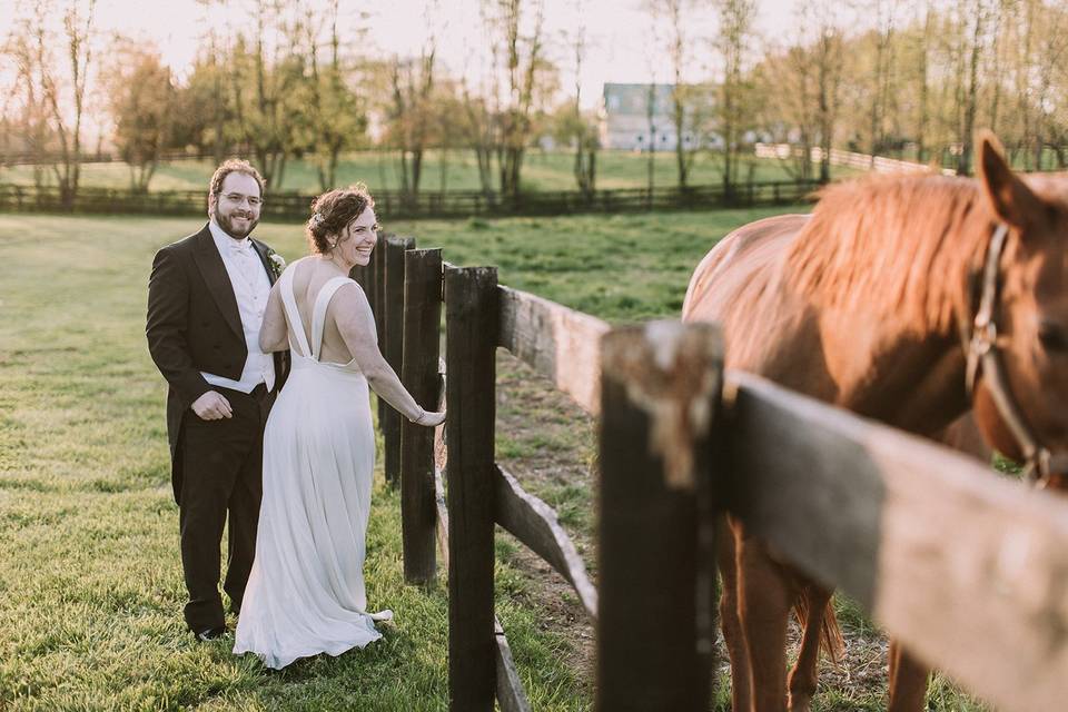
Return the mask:
[[(382, 239), (378, 267), (357, 276), (384, 314), (387, 354), (390, 335), (403, 335), (403, 378), (423, 403), (438, 395), (445, 306), (447, 508), (427, 433), (402, 428), (399, 473), (387, 477), (403, 491), (409, 581), (433, 578), (435, 524), (447, 530), (452, 710), (492, 710), (495, 700), (507, 712), (530, 708), (494, 616), (495, 525), (567, 580), (596, 621), (596, 709), (706, 709), (716, 670), (714, 525), (724, 512), (1000, 710), (1062, 706), (1061, 496), (724, 373), (713, 326), (610, 330), (498, 285), (494, 268), (443, 265), (437, 250)], [(383, 289), (397, 245), (406, 248), (403, 303)], [(494, 461), (498, 347), (600, 415), (597, 587), (553, 511)]]

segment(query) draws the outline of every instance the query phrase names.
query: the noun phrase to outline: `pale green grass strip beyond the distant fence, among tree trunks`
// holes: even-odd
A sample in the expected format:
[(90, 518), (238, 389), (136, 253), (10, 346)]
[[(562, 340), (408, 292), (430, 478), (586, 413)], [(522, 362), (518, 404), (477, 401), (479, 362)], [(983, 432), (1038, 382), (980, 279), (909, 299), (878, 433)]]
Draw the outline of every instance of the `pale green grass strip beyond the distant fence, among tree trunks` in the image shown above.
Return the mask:
[[(469, 151), (451, 151), (445, 156), (443, 182), (442, 154), (431, 151), (424, 165), (423, 190), (478, 190), (478, 169)], [(572, 175), (573, 157), (561, 151), (531, 151), (523, 164), (523, 187), (526, 190), (575, 190)], [(601, 151), (597, 156), (597, 187), (644, 188), (646, 186), (647, 157), (631, 151)], [(659, 187), (678, 184), (674, 154), (661, 152), (654, 157), (654, 182)], [(159, 167), (152, 177), (152, 190), (202, 190), (208, 184), (215, 165), (210, 160), (180, 160)], [(700, 154), (694, 161), (692, 185), (718, 184), (722, 180), (719, 165), (708, 154)], [(750, 174), (752, 171), (752, 174)], [(848, 168), (835, 168), (837, 176), (856, 175)], [(792, 180), (775, 159), (749, 159), (740, 171), (741, 180), (750, 175), (755, 181)], [(47, 176), (52, 181), (52, 176)], [(367, 151), (346, 156), (337, 172), (338, 185), (362, 180), (374, 190), (395, 190), (400, 185), (395, 154)], [(31, 185), (33, 170), (28, 166), (0, 168), (0, 184)], [(82, 167), (81, 185), (107, 188), (127, 188), (129, 169), (125, 164), (88, 164)], [(287, 164), (283, 190), (319, 192), (315, 166), (294, 159)]]

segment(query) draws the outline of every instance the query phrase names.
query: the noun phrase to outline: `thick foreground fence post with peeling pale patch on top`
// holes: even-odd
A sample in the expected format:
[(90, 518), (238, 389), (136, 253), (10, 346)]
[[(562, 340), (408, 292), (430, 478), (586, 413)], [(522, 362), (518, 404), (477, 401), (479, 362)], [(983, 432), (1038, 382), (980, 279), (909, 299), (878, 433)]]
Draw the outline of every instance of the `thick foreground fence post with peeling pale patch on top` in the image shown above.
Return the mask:
[(719, 330), (653, 322), (602, 344), (596, 709), (705, 710), (713, 562), (700, 481), (722, 384)]

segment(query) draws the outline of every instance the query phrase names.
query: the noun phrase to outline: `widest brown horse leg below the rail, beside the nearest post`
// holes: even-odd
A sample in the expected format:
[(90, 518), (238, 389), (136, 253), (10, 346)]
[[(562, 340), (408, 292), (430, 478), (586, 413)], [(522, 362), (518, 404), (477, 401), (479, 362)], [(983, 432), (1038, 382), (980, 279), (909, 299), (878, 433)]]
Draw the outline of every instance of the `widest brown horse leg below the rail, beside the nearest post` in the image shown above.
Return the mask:
[(738, 546), (739, 617), (749, 652), (752, 712), (785, 712), (787, 622), (793, 595), (779, 564), (755, 540)]

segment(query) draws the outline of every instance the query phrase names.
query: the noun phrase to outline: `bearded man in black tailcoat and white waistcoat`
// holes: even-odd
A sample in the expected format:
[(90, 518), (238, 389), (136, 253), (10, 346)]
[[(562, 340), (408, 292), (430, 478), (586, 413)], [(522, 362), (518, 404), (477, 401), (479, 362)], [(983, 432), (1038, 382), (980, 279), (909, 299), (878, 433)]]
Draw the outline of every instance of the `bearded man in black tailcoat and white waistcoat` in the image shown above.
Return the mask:
[(167, 436), (178, 502), (186, 623), (198, 640), (226, 633), (219, 545), (229, 514), (222, 589), (240, 612), (256, 547), (264, 425), (287, 353), (264, 354), (259, 327), (276, 278), (270, 248), (248, 236), (264, 180), (244, 160), (220, 165), (210, 220), (156, 254), (148, 283), (148, 350), (167, 379)]

